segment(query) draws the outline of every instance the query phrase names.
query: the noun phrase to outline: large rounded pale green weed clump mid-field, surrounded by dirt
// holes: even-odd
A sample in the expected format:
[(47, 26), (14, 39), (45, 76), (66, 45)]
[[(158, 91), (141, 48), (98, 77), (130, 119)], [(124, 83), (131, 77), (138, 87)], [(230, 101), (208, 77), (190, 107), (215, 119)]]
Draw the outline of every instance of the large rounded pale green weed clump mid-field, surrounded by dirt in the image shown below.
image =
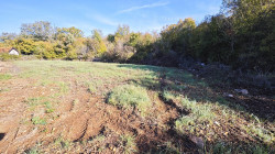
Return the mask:
[(133, 85), (123, 85), (114, 88), (107, 101), (108, 103), (123, 108), (134, 107), (142, 114), (146, 112), (152, 103), (146, 89)]

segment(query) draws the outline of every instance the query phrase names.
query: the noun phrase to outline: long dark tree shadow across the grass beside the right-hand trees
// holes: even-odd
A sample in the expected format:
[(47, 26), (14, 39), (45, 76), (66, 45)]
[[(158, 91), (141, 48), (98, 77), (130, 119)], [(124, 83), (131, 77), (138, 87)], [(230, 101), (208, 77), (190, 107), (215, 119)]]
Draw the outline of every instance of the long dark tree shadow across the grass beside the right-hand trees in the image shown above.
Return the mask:
[[(154, 73), (156, 80), (150, 78), (140, 78), (139, 80), (129, 80), (134, 84), (139, 84), (147, 89), (161, 91), (165, 88), (169, 91), (179, 92), (187, 96), (187, 98), (196, 101), (204, 102), (219, 102), (220, 105), (228, 106), (229, 108), (254, 114), (263, 121), (274, 122), (275, 120), (275, 103), (272, 99), (260, 99), (257, 97), (250, 97), (250, 99), (243, 99), (243, 97), (228, 98), (223, 96), (223, 92), (228, 89), (221, 89), (220, 87), (228, 86), (222, 82), (215, 82), (211, 79), (198, 79), (190, 73), (180, 70), (177, 68), (157, 67), (150, 65), (132, 65), (121, 64), (118, 67), (125, 67), (131, 69), (148, 70)], [(164, 79), (166, 86), (161, 87), (160, 80)], [(224, 91), (222, 91), (224, 90)]]

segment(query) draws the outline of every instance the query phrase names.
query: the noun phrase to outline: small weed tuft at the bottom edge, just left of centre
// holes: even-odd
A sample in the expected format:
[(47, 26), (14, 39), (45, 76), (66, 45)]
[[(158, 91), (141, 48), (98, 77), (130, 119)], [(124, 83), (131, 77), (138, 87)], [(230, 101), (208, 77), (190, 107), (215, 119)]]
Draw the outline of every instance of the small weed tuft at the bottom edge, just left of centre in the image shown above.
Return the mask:
[(123, 153), (125, 154), (131, 154), (131, 153), (136, 153), (138, 147), (135, 143), (135, 139), (131, 135), (121, 135), (121, 146), (123, 148)]

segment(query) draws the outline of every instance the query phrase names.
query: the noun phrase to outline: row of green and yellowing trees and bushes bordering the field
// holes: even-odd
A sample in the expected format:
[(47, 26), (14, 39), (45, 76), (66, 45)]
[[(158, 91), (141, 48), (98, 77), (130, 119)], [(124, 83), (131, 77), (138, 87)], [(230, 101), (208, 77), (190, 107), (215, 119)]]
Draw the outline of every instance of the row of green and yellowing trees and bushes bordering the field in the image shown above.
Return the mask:
[(119, 25), (103, 36), (92, 30), (85, 37), (76, 28), (53, 28), (50, 22), (22, 24), (21, 33), (2, 33), (0, 46), (24, 55), (53, 59), (178, 66), (186, 59), (221, 63), (233, 68), (274, 72), (275, 4), (272, 0), (223, 0), (220, 12), (196, 25), (188, 18), (166, 25), (161, 33), (131, 32)]

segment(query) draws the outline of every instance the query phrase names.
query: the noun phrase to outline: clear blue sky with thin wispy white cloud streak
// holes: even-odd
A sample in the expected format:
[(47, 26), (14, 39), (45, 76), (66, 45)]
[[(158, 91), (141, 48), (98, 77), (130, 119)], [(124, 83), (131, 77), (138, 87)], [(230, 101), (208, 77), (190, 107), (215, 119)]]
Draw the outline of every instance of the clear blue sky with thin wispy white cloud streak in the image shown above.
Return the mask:
[(22, 23), (50, 21), (54, 26), (76, 26), (90, 35), (99, 29), (105, 35), (119, 24), (131, 31), (151, 32), (179, 19), (197, 23), (219, 12), (222, 0), (0, 0), (0, 33), (20, 32)]

